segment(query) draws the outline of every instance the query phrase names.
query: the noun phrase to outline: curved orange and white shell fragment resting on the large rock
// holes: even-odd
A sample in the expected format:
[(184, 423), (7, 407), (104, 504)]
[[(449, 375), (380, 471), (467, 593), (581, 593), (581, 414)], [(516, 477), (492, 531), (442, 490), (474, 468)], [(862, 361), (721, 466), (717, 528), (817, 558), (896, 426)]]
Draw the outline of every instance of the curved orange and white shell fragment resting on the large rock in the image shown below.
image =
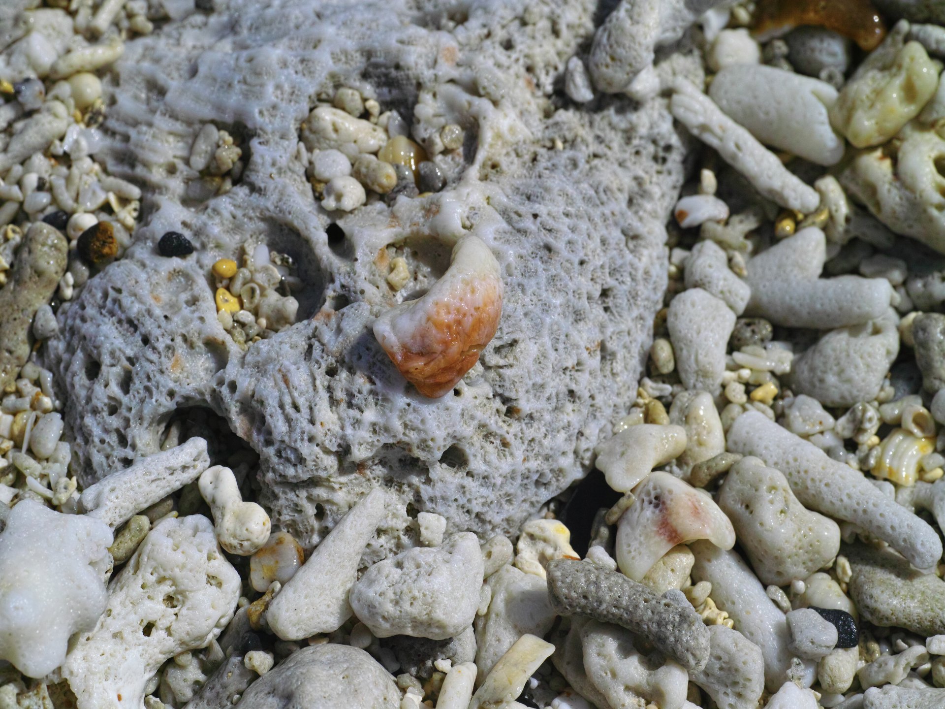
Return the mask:
[(495, 335), (502, 293), (499, 262), (482, 239), (466, 236), (443, 277), (426, 295), (381, 315), (374, 337), (407, 381), (438, 398), (472, 369)]

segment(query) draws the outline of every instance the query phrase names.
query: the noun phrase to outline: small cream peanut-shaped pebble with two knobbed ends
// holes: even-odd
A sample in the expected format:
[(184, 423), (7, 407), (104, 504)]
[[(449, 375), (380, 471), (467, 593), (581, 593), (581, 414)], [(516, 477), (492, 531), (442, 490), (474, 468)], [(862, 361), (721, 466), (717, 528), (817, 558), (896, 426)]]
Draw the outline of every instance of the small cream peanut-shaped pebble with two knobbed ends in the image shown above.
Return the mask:
[(216, 537), (231, 554), (250, 556), (266, 544), (272, 525), (266, 510), (244, 502), (230, 468), (215, 465), (200, 475), (200, 494), (214, 515)]

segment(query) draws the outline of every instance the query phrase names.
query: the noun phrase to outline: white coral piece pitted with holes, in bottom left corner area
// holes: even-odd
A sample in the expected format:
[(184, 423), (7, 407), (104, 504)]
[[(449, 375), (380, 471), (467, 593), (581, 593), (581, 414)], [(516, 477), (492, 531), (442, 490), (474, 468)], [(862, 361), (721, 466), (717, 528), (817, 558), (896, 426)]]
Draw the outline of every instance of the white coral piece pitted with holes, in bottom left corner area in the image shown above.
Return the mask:
[(205, 648), (232, 618), (240, 577), (201, 515), (154, 527), (109, 585), (94, 630), (81, 633), (62, 675), (78, 709), (140, 707), (163, 663)]

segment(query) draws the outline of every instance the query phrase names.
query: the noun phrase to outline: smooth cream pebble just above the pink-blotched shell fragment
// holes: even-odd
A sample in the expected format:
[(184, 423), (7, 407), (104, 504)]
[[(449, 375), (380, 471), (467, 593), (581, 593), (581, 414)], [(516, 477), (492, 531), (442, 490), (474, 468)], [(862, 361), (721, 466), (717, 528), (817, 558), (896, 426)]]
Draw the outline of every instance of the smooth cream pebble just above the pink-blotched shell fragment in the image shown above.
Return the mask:
[(658, 465), (686, 449), (686, 430), (679, 425), (639, 424), (598, 444), (595, 465), (618, 493), (627, 493)]

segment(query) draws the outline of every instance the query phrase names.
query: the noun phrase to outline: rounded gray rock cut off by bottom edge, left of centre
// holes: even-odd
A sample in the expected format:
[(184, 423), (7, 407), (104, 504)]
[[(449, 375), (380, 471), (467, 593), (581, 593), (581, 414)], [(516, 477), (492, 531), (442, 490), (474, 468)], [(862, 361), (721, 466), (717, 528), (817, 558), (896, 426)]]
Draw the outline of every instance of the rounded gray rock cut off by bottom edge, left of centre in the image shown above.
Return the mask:
[(363, 649), (325, 643), (293, 652), (249, 685), (242, 709), (398, 709), (401, 690)]

